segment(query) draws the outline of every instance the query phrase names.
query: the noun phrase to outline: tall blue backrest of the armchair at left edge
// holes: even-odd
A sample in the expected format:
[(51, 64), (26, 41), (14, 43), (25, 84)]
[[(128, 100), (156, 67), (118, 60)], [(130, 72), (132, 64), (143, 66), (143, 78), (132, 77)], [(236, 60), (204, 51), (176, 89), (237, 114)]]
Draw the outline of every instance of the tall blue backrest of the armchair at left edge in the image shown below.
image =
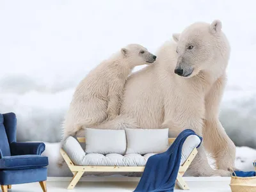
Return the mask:
[(10, 143), (16, 141), (16, 125), (14, 113), (0, 113), (0, 157), (11, 156)]

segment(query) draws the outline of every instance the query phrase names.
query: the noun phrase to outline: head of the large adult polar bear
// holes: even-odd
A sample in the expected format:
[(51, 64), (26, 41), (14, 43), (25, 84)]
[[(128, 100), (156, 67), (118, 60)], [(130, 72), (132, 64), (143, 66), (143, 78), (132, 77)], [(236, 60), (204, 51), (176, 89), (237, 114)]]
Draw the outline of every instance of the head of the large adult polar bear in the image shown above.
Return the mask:
[(209, 70), (218, 74), (227, 67), (230, 48), (220, 20), (212, 24), (196, 22), (182, 33), (173, 34), (173, 39), (177, 42), (175, 74), (193, 77)]

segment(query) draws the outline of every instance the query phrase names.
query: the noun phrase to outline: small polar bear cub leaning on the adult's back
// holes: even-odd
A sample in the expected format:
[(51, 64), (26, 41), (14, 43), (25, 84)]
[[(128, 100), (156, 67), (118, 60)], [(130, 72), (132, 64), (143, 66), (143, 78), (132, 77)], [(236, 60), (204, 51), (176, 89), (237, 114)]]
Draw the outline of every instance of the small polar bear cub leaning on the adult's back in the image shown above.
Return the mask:
[(132, 68), (154, 63), (156, 56), (138, 44), (129, 44), (102, 61), (76, 88), (63, 125), (63, 141), (82, 127), (91, 127), (119, 115), (120, 98)]

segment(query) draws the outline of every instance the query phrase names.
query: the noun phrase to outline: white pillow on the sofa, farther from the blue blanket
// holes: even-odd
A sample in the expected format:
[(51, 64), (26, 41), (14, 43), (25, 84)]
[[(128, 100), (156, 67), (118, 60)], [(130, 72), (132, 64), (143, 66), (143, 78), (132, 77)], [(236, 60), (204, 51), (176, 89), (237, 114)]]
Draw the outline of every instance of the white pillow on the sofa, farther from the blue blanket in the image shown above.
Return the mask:
[(85, 152), (88, 154), (121, 154), (126, 150), (124, 130), (85, 129)]

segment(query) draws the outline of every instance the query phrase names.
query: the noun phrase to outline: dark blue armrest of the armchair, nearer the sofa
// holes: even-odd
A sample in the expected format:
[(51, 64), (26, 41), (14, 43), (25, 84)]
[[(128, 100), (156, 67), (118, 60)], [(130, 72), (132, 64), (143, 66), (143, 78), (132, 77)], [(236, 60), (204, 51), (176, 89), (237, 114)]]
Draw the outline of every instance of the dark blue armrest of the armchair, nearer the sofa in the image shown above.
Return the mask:
[(45, 150), (44, 143), (12, 142), (10, 144), (12, 156), (41, 155)]

